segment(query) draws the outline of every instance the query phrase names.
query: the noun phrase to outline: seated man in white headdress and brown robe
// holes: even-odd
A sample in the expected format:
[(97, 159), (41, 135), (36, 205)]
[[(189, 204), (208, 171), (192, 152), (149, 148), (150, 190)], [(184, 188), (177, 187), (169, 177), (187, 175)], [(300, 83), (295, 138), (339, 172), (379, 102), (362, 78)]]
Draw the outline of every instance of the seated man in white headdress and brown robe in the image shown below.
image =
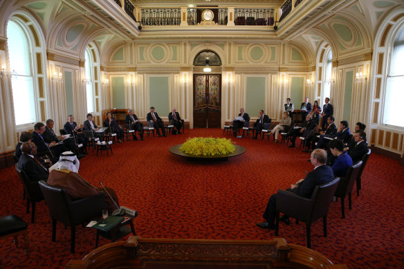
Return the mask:
[(102, 187), (91, 185), (91, 183), (77, 174), (79, 166), (79, 160), (71, 151), (64, 152), (60, 156), (59, 161), (53, 165), (54, 168), (51, 167), (53, 169), (50, 171), (48, 184), (65, 189), (72, 200), (94, 196), (100, 192), (107, 191), (109, 195), (105, 194), (106, 209), (109, 214), (112, 214), (117, 208), (111, 198), (118, 204), (116, 192), (109, 187), (105, 187), (104, 190)]

